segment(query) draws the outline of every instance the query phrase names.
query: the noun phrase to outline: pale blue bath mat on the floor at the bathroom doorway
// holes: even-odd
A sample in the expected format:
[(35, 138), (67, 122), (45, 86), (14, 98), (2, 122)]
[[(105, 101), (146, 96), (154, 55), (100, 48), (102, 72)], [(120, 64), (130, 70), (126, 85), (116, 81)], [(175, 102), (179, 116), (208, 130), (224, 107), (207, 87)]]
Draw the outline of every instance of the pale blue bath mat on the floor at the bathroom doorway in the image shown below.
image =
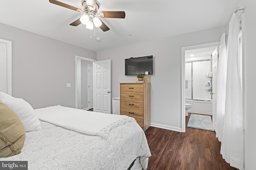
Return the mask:
[(212, 126), (212, 119), (208, 115), (190, 114), (187, 126), (196, 129), (214, 131)]

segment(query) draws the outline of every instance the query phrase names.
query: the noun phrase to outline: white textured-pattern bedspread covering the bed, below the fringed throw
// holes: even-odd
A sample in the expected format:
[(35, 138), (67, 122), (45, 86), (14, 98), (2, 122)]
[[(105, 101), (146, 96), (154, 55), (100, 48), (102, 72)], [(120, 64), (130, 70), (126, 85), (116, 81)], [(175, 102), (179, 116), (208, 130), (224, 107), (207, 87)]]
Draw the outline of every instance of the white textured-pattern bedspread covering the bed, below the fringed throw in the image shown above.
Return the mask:
[(28, 161), (28, 170), (126, 170), (151, 156), (144, 131), (134, 121), (113, 128), (107, 139), (40, 121), (42, 130), (26, 133), (22, 152), (0, 161)]

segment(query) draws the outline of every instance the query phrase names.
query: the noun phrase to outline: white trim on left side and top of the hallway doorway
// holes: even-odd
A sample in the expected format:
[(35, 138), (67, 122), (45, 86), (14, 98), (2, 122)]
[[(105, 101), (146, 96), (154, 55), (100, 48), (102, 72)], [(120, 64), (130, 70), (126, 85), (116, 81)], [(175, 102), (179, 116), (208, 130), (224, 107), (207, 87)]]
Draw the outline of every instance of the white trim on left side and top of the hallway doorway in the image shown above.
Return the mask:
[(78, 68), (81, 67), (81, 66), (78, 66), (78, 63), (81, 63), (80, 62), (81, 60), (91, 61), (91, 62), (97, 61), (97, 60), (94, 60), (94, 59), (89, 59), (89, 58), (86, 58), (86, 57), (80, 57), (80, 56), (75, 55), (75, 72), (76, 72), (76, 80), (75, 80), (75, 107), (76, 107), (76, 109), (78, 108), (78, 100), (77, 100), (77, 98), (78, 98), (78, 94), (77, 94), (77, 91), (78, 91), (78, 81), (79, 81), (78, 80), (78, 75), (81, 75), (78, 72)]

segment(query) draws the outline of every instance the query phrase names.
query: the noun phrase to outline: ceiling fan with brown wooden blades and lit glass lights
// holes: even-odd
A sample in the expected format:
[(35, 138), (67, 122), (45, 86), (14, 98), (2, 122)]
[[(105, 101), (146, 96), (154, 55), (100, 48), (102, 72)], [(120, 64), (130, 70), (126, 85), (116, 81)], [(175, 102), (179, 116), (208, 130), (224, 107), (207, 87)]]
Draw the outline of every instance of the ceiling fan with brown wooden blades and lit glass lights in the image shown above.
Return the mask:
[(125, 18), (124, 11), (100, 11), (100, 3), (96, 0), (82, 0), (83, 10), (76, 8), (74, 6), (65, 4), (57, 0), (49, 0), (50, 3), (62, 6), (77, 12), (82, 12), (84, 15), (81, 18), (78, 18), (76, 21), (70, 23), (69, 25), (78, 26), (81, 23), (86, 25), (87, 29), (93, 29), (93, 26), (100, 27), (102, 31), (108, 31), (110, 28), (98, 17), (102, 18)]

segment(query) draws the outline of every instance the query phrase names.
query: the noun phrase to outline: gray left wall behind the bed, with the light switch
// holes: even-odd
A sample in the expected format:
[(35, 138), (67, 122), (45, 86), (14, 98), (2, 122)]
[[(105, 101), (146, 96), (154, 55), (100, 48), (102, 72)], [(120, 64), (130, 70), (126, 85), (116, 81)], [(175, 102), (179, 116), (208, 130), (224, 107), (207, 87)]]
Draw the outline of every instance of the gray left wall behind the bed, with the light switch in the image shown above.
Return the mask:
[(33, 108), (75, 107), (75, 55), (96, 59), (96, 52), (2, 23), (0, 39), (12, 41), (12, 96)]

